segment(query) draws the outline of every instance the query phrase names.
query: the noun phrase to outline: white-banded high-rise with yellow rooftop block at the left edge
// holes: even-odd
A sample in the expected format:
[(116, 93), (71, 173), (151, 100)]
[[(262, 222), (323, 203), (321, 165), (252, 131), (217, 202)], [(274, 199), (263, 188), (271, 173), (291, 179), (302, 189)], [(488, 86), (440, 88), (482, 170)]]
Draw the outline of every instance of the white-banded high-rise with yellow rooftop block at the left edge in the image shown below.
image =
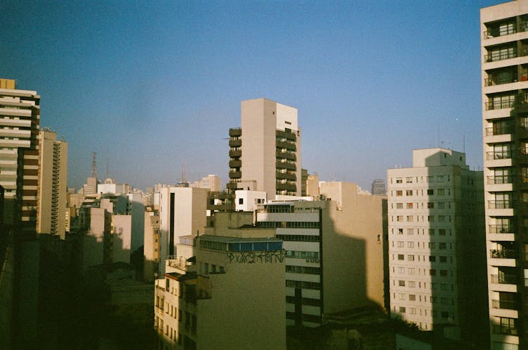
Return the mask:
[(6, 224), (34, 234), (37, 218), (40, 96), (0, 79), (0, 185)]

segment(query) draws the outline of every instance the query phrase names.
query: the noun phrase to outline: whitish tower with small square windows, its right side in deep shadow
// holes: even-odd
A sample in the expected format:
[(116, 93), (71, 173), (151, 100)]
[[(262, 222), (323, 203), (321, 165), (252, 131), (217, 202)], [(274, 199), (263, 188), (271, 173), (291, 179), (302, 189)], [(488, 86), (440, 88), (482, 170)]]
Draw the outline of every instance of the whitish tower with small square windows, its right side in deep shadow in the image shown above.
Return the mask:
[(487, 330), (482, 172), (463, 153), (415, 149), (413, 168), (387, 170), (387, 184), (391, 316), (478, 342)]

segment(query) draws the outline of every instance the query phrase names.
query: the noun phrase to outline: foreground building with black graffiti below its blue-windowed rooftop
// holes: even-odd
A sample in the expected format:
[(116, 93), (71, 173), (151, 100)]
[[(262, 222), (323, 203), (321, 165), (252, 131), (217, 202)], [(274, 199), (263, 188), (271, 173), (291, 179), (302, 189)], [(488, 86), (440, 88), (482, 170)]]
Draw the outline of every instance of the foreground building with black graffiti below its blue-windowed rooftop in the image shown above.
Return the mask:
[(253, 213), (217, 213), (205, 235), (180, 237), (156, 280), (161, 349), (284, 350), (284, 250)]

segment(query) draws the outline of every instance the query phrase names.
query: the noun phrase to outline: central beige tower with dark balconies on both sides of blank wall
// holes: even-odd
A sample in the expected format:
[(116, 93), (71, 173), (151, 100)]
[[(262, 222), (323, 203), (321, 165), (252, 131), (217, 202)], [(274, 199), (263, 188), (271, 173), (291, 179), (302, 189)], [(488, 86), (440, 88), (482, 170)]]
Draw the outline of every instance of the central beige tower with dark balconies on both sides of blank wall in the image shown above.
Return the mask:
[[(230, 129), (227, 189), (301, 195), (301, 129), (297, 110), (269, 99), (241, 102), (241, 128)], [(256, 182), (256, 188), (252, 187)], [(249, 187), (249, 188), (248, 188)]]

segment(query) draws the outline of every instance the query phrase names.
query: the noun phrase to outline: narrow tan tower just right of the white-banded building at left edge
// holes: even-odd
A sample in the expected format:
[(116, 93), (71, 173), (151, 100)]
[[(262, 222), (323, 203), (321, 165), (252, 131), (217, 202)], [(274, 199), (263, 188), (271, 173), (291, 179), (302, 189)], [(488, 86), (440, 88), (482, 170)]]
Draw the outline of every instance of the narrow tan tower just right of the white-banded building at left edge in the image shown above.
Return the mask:
[(49, 233), (65, 239), (68, 143), (63, 139), (57, 140), (56, 132), (49, 129), (39, 132), (38, 184), (37, 233)]

